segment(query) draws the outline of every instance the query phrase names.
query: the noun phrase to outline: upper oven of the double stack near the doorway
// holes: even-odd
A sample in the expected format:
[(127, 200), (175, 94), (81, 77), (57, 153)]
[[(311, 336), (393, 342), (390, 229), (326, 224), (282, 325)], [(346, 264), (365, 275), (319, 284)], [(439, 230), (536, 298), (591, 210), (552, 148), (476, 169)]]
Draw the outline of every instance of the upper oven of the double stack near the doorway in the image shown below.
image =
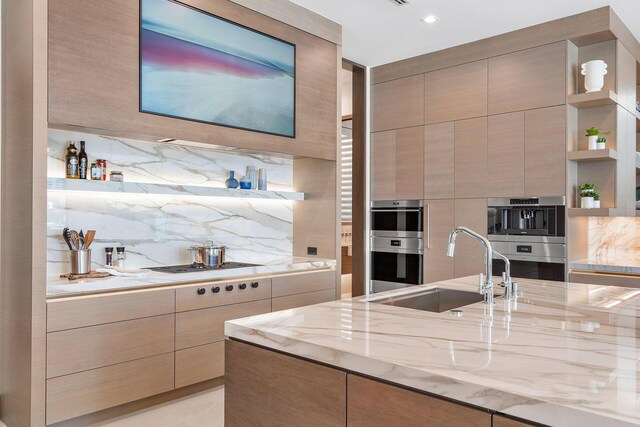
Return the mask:
[[(387, 207), (375, 203), (371, 208), (371, 235), (379, 237), (418, 237), (424, 235), (422, 201), (416, 206), (407, 202), (385, 202), (405, 204), (405, 206)], [(417, 204), (420, 203), (420, 206)], [(382, 206), (381, 206), (382, 205)]]

